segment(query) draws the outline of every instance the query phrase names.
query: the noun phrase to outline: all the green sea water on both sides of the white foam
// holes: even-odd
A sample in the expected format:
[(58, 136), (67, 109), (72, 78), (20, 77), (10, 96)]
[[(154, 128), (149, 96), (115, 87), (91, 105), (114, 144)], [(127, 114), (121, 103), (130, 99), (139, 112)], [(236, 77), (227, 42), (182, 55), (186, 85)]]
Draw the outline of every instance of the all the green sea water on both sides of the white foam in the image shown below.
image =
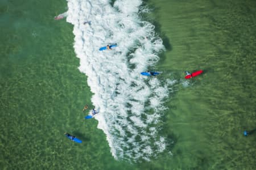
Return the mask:
[[(77, 67), (72, 25), (53, 17), (65, 1), (1, 1), (1, 169), (253, 169), (256, 166), (255, 2), (157, 1), (152, 17), (167, 46), (160, 79), (176, 78), (162, 133), (172, 154), (114, 160)], [(31, 8), (31, 5), (33, 6)], [(5, 43), (3, 43), (5, 42)], [(183, 71), (205, 73), (182, 82)], [(90, 106), (92, 107), (92, 106)], [(82, 145), (67, 141), (68, 131)]]

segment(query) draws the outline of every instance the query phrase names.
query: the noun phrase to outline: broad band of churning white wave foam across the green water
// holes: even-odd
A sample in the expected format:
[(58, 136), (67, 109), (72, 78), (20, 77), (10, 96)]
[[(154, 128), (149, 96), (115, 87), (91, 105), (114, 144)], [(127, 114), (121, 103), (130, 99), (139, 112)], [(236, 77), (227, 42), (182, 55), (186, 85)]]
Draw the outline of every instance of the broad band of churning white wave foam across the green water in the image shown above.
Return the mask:
[[(167, 146), (158, 131), (170, 83), (139, 74), (154, 66), (164, 50), (154, 25), (139, 18), (142, 1), (117, 0), (113, 6), (106, 0), (67, 2), (79, 70), (88, 76), (92, 103), (100, 109), (98, 128), (106, 134), (112, 155), (150, 160)], [(90, 25), (83, 24), (88, 20)], [(98, 50), (112, 43), (118, 46)]]

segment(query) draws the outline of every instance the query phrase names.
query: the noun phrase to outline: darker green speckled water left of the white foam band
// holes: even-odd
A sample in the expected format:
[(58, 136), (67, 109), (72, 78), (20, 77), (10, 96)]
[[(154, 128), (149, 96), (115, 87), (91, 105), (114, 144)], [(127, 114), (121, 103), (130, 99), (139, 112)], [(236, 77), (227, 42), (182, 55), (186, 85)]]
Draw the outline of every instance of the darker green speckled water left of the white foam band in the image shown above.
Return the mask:
[[(77, 69), (73, 28), (53, 20), (65, 1), (31, 4), (2, 8), (0, 169), (117, 167), (107, 164), (114, 159), (97, 122), (84, 120), (92, 94)], [(68, 141), (65, 131), (84, 143)]]

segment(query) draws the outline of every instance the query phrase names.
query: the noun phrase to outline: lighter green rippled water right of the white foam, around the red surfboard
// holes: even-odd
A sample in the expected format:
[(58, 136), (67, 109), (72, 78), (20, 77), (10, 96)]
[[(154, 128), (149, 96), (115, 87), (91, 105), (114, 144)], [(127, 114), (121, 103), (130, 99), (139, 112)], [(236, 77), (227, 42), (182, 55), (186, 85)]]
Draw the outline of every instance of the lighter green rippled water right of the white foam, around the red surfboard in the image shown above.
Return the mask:
[(168, 104), (166, 129), (176, 138), (171, 167), (253, 169), (255, 134), (245, 138), (242, 132), (256, 128), (255, 2), (151, 5), (171, 46), (159, 69), (175, 77), (204, 70), (189, 83), (181, 80)]

